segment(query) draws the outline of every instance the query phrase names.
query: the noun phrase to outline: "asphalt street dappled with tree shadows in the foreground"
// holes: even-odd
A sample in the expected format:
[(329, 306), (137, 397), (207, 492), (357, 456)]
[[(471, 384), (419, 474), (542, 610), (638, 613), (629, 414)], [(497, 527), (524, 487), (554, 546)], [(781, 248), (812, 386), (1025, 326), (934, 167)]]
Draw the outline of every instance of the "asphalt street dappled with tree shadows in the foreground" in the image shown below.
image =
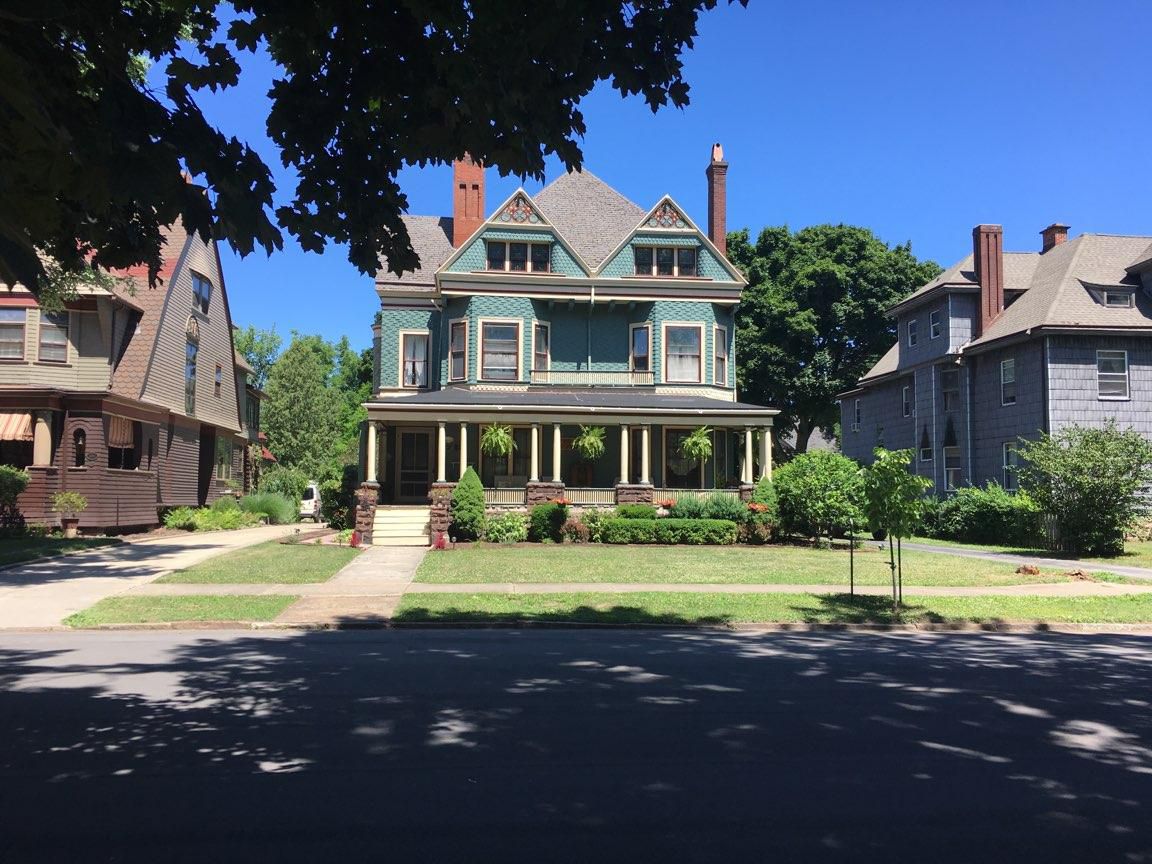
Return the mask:
[(1152, 639), (0, 636), (0, 861), (1152, 862)]

